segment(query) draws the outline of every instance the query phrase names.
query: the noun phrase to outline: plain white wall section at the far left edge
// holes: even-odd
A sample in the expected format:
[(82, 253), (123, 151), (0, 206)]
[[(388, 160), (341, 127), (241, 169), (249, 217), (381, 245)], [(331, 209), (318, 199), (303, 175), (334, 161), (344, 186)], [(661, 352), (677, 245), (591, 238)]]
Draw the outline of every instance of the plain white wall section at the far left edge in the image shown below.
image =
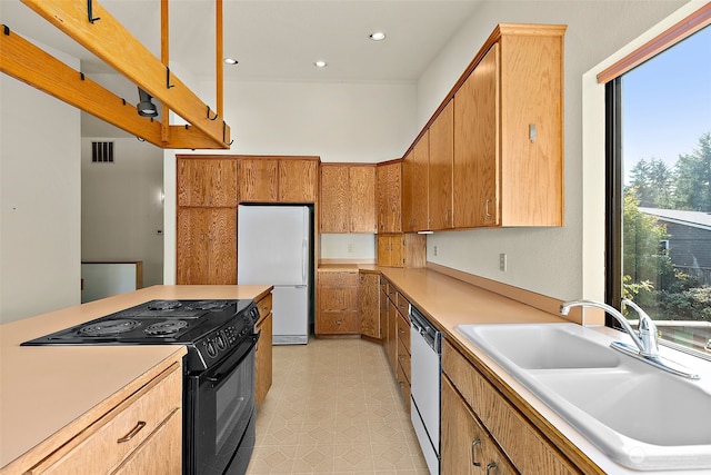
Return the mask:
[(6, 75), (0, 102), (0, 323), (7, 323), (80, 303), (80, 117)]

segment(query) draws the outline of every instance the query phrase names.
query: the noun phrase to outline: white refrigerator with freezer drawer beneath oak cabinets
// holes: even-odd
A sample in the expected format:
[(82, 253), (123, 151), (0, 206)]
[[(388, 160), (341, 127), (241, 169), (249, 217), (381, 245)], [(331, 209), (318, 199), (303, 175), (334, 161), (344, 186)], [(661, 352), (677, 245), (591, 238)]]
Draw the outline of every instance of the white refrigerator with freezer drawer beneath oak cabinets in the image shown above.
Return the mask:
[(311, 309), (311, 210), (240, 205), (237, 283), (273, 285), (273, 344), (304, 345)]

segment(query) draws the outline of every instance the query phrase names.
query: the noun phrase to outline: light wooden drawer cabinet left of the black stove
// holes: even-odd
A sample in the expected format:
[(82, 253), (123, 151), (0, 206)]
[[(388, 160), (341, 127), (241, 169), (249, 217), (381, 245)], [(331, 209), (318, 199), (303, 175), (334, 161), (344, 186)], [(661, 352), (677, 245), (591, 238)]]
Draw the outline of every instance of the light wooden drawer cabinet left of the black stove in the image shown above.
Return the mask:
[(121, 404), (102, 414), (27, 473), (181, 473), (180, 363), (176, 362)]

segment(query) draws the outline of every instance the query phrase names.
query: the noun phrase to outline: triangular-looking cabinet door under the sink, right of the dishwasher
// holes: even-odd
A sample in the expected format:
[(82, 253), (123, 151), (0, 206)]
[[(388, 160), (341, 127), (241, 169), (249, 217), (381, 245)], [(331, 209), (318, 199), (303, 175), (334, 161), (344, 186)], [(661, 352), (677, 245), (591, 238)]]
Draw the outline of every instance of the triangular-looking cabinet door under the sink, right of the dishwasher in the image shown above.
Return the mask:
[(443, 474), (518, 473), (445, 377), (442, 377), (441, 437)]

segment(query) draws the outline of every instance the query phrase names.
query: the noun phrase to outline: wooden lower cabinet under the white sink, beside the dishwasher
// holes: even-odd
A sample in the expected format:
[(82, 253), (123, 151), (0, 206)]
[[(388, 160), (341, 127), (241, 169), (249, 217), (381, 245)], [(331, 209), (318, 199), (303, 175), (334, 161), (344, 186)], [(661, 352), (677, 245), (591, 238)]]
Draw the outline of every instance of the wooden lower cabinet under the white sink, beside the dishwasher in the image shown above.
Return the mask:
[[(501, 393), (449, 342), (442, 344), (442, 474), (487, 473), (487, 457), (495, 458), (498, 447), (515, 471), (522, 474), (580, 474), (558, 448), (545, 438)], [(447, 384), (445, 384), (447, 383)], [(460, 400), (452, 400), (449, 394), (445, 402), (445, 388), (457, 389)], [(480, 425), (478, 435), (472, 436), (471, 417), (467, 424), (455, 420), (461, 418), (464, 409), (473, 415), (473, 422)], [(463, 425), (462, 425), (463, 424)], [(481, 441), (481, 471), (469, 472), (471, 465), (472, 441)], [(473, 439), (471, 437), (474, 437)], [(489, 448), (483, 451), (484, 438), (490, 437)], [(505, 461), (500, 458), (501, 464)], [(499, 467), (499, 473), (502, 466)], [(495, 473), (495, 472), (492, 472)]]

